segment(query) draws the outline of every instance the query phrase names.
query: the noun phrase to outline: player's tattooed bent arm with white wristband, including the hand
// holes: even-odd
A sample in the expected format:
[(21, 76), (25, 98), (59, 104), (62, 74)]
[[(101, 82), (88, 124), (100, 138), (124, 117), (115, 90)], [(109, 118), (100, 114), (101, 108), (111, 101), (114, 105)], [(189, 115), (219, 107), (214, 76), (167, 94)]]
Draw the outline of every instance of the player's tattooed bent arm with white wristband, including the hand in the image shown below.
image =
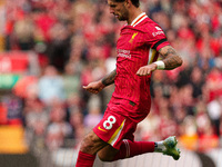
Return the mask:
[(161, 48), (158, 52), (162, 56), (163, 59), (141, 67), (137, 71), (138, 76), (148, 76), (157, 69), (171, 70), (180, 67), (183, 62), (182, 58), (171, 46), (165, 46)]

